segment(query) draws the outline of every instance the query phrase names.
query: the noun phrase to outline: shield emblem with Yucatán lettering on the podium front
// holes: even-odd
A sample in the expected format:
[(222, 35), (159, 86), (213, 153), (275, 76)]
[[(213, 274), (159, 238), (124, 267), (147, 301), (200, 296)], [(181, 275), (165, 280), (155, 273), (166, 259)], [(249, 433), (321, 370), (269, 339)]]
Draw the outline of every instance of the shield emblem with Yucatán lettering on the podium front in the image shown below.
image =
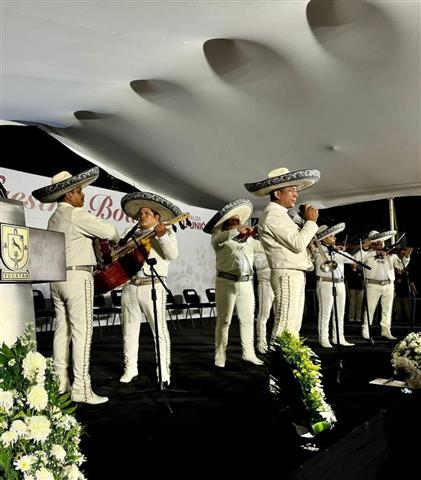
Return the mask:
[(29, 280), (29, 229), (18, 225), (1, 225), (1, 258), (10, 272), (2, 270), (2, 280)]

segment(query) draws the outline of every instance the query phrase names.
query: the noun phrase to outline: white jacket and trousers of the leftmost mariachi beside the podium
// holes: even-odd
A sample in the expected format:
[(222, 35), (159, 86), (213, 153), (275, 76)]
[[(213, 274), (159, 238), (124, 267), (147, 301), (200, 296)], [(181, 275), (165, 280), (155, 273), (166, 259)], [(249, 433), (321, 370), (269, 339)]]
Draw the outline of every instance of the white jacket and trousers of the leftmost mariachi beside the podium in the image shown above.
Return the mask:
[[(54, 332), (54, 367), (61, 386), (68, 384), (69, 349), (72, 343), (72, 395), (92, 396), (89, 361), (93, 325), (93, 267), (97, 261), (92, 239), (118, 241), (117, 229), (87, 210), (59, 202), (48, 222), (48, 230), (65, 235), (66, 266), (86, 267), (86, 270), (68, 270), (65, 282), (51, 283), (51, 298), (56, 311)], [(89, 271), (89, 266), (91, 271)]]

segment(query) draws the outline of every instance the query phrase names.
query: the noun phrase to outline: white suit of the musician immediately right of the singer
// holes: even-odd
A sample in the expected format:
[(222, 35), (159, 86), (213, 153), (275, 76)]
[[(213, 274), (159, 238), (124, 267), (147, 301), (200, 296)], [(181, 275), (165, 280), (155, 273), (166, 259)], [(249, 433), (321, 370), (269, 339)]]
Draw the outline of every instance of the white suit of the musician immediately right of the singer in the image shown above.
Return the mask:
[(333, 260), (337, 263), (337, 268), (333, 270), (333, 278), (336, 287), (336, 307), (338, 313), (338, 328), (339, 328), (339, 342), (346, 344), (344, 335), (344, 315), (345, 315), (345, 303), (346, 303), (346, 291), (344, 283), (344, 264), (354, 263), (353, 260), (332, 252), (330, 256), (329, 250), (325, 245), (320, 245), (320, 249), (323, 251), (325, 257), (317, 251), (314, 264), (316, 269), (316, 294), (319, 302), (319, 314), (318, 314), (318, 329), (319, 329), (319, 342), (322, 346), (329, 345), (329, 324), (332, 319), (332, 341), (336, 343), (336, 322), (334, 311), (334, 297), (332, 287), (332, 272), (323, 272), (320, 266), (325, 262), (325, 258)]

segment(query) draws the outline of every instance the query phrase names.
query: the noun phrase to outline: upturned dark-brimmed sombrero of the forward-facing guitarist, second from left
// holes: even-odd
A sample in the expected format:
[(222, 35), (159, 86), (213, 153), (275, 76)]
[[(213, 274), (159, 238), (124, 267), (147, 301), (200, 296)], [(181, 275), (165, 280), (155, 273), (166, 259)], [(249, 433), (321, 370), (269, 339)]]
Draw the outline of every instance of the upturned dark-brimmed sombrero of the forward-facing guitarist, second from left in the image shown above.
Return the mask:
[(139, 210), (150, 208), (159, 213), (160, 221), (167, 222), (181, 215), (181, 210), (157, 193), (131, 192), (121, 199), (121, 208), (124, 213), (134, 220), (139, 220)]

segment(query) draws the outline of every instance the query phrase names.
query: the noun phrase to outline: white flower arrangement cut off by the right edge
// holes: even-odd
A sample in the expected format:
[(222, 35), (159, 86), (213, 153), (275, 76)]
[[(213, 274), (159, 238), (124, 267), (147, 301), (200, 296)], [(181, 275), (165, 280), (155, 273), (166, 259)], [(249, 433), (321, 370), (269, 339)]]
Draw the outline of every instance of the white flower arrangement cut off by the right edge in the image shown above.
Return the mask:
[(421, 332), (412, 332), (392, 351), (395, 374), (405, 378), (408, 386), (421, 388)]

